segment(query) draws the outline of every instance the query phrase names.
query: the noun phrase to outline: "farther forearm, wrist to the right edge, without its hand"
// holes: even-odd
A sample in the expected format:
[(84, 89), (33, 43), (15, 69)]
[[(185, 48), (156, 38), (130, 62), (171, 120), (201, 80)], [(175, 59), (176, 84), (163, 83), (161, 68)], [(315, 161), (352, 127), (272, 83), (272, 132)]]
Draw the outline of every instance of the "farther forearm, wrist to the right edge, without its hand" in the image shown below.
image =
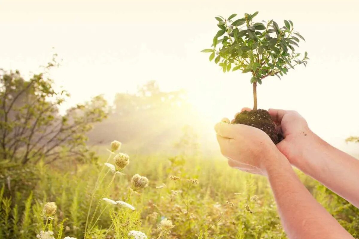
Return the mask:
[(289, 156), (290, 162), (359, 207), (359, 160), (332, 147), (312, 132), (299, 140), (302, 140), (302, 147), (297, 154)]

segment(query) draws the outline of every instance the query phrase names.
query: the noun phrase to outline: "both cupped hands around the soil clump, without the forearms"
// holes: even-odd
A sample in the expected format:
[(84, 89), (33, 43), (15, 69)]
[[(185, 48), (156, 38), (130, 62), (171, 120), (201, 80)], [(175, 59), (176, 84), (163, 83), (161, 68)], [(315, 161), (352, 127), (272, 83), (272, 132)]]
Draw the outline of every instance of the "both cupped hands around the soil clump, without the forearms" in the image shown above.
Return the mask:
[(268, 167), (280, 153), (284, 154), (290, 163), (296, 164), (295, 156), (300, 153), (300, 146), (305, 142), (305, 137), (311, 133), (306, 120), (292, 110), (269, 109), (268, 112), (274, 123), (280, 127), (284, 137), (277, 145), (266, 133), (252, 126), (229, 124), (226, 118), (215, 125), (221, 153), (228, 158), (229, 166), (267, 175)]

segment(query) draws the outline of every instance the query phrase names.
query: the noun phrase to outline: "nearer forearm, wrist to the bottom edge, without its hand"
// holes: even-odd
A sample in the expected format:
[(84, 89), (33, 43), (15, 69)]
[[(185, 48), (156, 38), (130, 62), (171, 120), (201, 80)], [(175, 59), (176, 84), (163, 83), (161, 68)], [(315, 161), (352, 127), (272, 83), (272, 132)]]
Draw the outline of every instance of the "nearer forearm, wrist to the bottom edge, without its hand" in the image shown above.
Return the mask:
[(353, 237), (312, 197), (283, 154), (267, 167), (267, 176), (284, 229), (290, 239)]

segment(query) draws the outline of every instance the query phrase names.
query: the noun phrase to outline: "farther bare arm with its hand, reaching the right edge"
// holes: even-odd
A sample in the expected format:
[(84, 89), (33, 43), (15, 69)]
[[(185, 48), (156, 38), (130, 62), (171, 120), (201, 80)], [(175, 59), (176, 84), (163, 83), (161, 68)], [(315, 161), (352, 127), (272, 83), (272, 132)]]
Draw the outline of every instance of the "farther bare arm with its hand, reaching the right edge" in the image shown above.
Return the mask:
[(269, 112), (281, 125), (284, 140), (277, 147), (290, 163), (359, 207), (359, 160), (314, 134), (297, 112)]

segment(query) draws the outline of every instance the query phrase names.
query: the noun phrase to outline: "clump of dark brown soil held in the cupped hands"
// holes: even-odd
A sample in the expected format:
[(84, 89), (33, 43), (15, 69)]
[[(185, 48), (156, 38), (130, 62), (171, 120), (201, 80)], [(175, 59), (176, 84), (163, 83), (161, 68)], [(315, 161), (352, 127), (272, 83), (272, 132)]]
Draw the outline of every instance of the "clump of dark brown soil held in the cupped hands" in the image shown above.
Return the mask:
[(278, 144), (283, 139), (266, 110), (243, 111), (236, 115), (236, 119), (232, 124), (245, 124), (261, 129), (269, 135), (275, 144)]

